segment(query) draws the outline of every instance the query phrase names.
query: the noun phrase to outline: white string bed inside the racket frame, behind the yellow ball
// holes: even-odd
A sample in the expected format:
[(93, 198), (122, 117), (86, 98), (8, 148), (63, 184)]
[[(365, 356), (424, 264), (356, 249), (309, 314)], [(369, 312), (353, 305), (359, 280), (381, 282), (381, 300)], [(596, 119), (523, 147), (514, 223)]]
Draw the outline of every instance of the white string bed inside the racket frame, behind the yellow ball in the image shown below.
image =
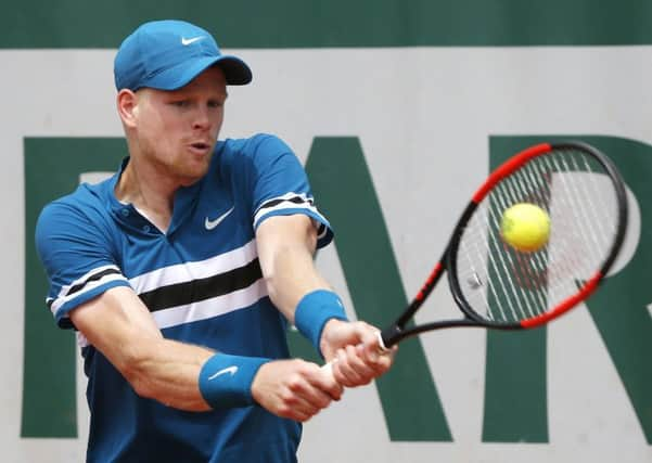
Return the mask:
[[(503, 211), (535, 204), (550, 236), (522, 252), (501, 236)], [(577, 293), (610, 253), (617, 228), (616, 191), (603, 166), (580, 150), (537, 156), (499, 181), (478, 204), (457, 253), (463, 297), (485, 320), (517, 323)]]

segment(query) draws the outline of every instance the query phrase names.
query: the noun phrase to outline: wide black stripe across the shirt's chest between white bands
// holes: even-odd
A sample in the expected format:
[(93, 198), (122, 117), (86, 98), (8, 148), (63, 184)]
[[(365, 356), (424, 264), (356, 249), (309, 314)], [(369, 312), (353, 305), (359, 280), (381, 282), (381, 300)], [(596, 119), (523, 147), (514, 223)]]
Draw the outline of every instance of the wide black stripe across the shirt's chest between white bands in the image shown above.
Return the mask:
[(251, 286), (263, 276), (258, 259), (247, 265), (204, 279), (161, 286), (138, 296), (150, 312), (186, 306), (192, 303), (223, 296)]

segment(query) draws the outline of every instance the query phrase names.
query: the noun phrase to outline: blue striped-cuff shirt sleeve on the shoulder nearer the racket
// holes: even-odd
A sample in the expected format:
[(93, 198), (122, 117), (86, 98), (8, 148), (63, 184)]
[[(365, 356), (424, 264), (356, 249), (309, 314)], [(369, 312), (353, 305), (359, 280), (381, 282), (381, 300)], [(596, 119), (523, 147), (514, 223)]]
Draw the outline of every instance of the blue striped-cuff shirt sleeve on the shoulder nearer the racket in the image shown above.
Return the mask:
[(251, 150), (253, 175), (254, 229), (274, 216), (304, 214), (317, 227), (317, 246), (323, 247), (333, 239), (327, 218), (318, 210), (306, 172), (294, 152), (273, 136), (257, 136)]

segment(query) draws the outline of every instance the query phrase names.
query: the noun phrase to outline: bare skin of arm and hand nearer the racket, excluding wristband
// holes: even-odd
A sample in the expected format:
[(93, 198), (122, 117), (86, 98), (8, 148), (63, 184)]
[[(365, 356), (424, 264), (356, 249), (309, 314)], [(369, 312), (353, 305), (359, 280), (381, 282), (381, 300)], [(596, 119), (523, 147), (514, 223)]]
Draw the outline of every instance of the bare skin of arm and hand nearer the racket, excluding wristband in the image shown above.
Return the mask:
[[(258, 227), (256, 243), (269, 297), (294, 323), (297, 305), (307, 294), (330, 291), (312, 260), (317, 230), (305, 215), (270, 217)], [(319, 349), (327, 361), (336, 360), (333, 374), (340, 384), (368, 384), (389, 369), (392, 356), (379, 355), (376, 331), (365, 322), (337, 319), (323, 325)]]

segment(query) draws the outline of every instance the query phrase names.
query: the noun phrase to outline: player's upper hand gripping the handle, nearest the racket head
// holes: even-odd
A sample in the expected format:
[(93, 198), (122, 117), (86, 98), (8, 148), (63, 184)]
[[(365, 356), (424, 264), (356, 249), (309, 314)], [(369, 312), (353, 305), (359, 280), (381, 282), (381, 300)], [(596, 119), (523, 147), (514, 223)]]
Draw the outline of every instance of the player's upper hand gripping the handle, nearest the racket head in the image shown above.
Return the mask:
[(389, 370), (396, 348), (383, 351), (378, 332), (365, 322), (328, 321), (320, 348), (325, 360), (332, 361), (337, 383), (346, 387), (361, 386)]

